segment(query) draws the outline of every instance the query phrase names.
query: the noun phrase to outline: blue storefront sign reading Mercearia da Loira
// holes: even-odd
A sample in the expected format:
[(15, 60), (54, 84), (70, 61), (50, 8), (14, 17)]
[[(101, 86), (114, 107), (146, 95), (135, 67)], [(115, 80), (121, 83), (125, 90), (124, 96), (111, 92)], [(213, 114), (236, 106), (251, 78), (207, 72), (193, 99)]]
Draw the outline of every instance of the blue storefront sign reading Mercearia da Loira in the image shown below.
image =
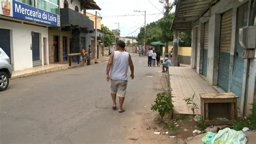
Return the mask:
[(20, 18), (32, 22), (60, 26), (60, 17), (55, 13), (36, 9), (33, 6), (12, 0), (0, 0), (0, 15)]

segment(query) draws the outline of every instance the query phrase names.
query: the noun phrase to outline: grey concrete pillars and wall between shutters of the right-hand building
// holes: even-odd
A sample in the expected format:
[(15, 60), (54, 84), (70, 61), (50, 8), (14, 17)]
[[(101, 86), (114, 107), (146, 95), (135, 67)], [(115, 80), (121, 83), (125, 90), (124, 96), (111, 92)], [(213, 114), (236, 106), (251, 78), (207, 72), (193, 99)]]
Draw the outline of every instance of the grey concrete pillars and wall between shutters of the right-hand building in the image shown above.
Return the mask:
[[(211, 8), (211, 12), (207, 11), (203, 17), (198, 20), (198, 40), (196, 42), (196, 28), (192, 30), (192, 54), (191, 54), (191, 67), (194, 68), (195, 57), (197, 56), (197, 73), (201, 74), (203, 66), (203, 24), (209, 20), (209, 36), (208, 36), (208, 58), (207, 58), (207, 81), (212, 85), (218, 85), (218, 68), (219, 68), (219, 39), (220, 39), (220, 16), (227, 10), (232, 9), (232, 37), (231, 37), (231, 50), (230, 50), (230, 74), (228, 91), (231, 91), (232, 80), (233, 80), (233, 67), (234, 67), (234, 54), (235, 54), (235, 40), (236, 40), (236, 28), (237, 28), (237, 9), (239, 6), (245, 4), (248, 1), (239, 2), (235, 0), (224, 1), (221, 0)], [(196, 44), (198, 45), (197, 53)], [(245, 114), (250, 113), (251, 104), (253, 102), (253, 95), (255, 94), (255, 59), (250, 60), (249, 77), (247, 73), (248, 60), (244, 60), (244, 76), (242, 81), (242, 95), (238, 95), (241, 102), (238, 107), (242, 112), (244, 110), (244, 101), (246, 101)], [(248, 87), (246, 87), (246, 81), (248, 80)], [(247, 93), (247, 94), (246, 94)], [(247, 95), (247, 96), (246, 96)]]

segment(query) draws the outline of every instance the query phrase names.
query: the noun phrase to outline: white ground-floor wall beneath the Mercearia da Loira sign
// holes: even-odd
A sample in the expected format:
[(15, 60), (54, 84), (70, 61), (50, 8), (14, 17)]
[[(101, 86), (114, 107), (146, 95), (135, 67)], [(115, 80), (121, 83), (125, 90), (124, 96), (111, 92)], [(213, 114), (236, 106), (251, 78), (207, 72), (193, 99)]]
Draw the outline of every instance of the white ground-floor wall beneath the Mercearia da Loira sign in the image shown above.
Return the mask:
[(6, 20), (0, 20), (0, 24), (0, 29), (10, 30), (11, 61), (14, 64), (14, 71), (33, 67), (32, 50), (30, 50), (30, 45), (32, 44), (31, 31), (39, 33), (39, 50), (42, 65), (44, 63), (43, 38), (46, 38), (46, 63), (49, 64), (48, 28)]

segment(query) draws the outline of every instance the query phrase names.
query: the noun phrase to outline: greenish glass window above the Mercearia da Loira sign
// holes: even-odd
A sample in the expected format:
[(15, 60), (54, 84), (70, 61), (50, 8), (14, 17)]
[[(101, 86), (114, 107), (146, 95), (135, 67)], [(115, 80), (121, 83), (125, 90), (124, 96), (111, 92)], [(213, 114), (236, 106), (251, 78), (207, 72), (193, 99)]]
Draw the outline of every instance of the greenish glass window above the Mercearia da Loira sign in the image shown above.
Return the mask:
[(59, 1), (58, 0), (38, 0), (38, 8), (59, 14)]

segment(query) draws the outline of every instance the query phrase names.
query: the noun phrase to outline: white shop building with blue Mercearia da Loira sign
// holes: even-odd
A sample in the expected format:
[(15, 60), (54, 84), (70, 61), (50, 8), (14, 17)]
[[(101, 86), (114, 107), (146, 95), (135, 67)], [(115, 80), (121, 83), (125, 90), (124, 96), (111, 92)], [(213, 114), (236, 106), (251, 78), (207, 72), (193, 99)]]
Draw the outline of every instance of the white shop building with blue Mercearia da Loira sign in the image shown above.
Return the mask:
[(49, 64), (48, 28), (58, 27), (59, 1), (0, 3), (0, 47), (13, 70)]

